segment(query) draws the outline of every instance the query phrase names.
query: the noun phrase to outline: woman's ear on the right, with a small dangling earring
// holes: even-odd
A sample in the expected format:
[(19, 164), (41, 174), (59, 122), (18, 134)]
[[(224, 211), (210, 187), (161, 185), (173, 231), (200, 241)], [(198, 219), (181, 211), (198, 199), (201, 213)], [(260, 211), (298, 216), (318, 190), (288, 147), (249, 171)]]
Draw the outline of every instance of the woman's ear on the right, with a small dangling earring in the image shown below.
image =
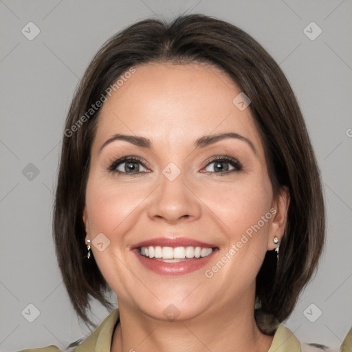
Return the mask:
[(278, 245), (274, 243), (274, 237), (278, 238), (280, 245), (285, 232), (287, 212), (289, 210), (289, 189), (282, 186), (272, 202), (272, 220), (269, 226), (269, 236), (267, 239), (267, 250), (274, 250)]

